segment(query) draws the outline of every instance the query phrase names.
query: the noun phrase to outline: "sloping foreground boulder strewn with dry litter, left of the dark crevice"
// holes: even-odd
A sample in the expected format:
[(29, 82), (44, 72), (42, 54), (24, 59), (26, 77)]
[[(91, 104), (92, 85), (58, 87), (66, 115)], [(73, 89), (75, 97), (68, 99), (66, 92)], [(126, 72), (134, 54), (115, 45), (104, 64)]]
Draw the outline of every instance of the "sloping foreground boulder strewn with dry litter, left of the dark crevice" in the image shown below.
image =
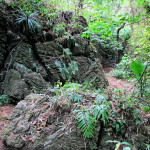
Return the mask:
[(55, 105), (49, 98), (50, 95), (30, 94), (17, 104), (1, 134), (8, 150), (85, 148), (88, 143), (72, 122), (70, 106), (61, 99)]

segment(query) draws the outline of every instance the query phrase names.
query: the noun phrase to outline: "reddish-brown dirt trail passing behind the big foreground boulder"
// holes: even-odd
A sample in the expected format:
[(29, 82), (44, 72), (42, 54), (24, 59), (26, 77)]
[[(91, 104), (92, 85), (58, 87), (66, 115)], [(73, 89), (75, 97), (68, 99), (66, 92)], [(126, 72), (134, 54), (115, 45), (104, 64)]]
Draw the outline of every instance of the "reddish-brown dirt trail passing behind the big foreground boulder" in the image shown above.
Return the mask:
[[(108, 73), (112, 70), (111, 67), (104, 68), (104, 72), (106, 76)], [(132, 83), (119, 80), (114, 77), (107, 76), (108, 82), (109, 82), (109, 89), (122, 89), (123, 91), (130, 91), (131, 88), (134, 86)], [(0, 106), (0, 134), (2, 132), (3, 127), (7, 124), (8, 118), (11, 115), (13, 109), (15, 106), (9, 105), (9, 106)], [(0, 140), (0, 150), (4, 150), (3, 144)]]

